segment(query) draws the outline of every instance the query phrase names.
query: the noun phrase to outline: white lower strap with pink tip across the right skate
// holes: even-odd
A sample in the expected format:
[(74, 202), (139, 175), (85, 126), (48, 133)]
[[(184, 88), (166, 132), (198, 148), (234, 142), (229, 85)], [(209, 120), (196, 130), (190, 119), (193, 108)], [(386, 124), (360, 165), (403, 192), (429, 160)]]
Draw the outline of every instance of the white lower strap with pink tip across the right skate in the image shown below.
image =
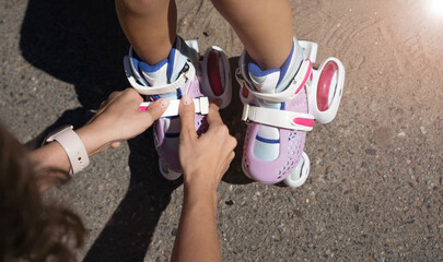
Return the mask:
[(314, 127), (314, 116), (310, 114), (256, 107), (247, 104), (243, 107), (242, 120), (301, 131), (311, 131)]

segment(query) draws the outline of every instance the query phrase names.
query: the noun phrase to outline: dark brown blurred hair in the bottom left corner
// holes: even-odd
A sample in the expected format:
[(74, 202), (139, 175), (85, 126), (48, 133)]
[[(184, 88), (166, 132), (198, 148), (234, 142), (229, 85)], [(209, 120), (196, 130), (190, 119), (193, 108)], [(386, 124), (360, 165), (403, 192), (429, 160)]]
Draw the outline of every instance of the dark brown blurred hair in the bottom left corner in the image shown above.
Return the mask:
[(74, 261), (73, 250), (83, 246), (80, 217), (43, 201), (38, 183), (45, 177), (0, 123), (0, 261)]

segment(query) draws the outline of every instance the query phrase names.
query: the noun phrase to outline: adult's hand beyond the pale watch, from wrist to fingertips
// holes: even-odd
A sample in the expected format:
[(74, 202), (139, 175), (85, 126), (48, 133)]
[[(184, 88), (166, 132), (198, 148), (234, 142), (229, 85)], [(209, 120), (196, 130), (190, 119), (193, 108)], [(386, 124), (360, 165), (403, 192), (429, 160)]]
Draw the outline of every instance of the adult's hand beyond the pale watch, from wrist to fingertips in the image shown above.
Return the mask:
[(89, 155), (117, 147), (120, 142), (144, 132), (158, 120), (170, 105), (166, 98), (151, 104), (145, 111), (139, 106), (143, 98), (133, 88), (114, 92), (103, 102), (94, 117), (77, 133)]

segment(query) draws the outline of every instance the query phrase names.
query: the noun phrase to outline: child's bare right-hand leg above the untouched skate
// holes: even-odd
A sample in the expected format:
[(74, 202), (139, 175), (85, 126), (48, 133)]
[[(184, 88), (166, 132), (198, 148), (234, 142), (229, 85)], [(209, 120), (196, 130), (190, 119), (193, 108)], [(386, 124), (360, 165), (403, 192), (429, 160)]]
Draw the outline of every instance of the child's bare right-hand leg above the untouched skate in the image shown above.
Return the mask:
[(280, 68), (293, 40), (288, 0), (212, 0), (261, 69)]

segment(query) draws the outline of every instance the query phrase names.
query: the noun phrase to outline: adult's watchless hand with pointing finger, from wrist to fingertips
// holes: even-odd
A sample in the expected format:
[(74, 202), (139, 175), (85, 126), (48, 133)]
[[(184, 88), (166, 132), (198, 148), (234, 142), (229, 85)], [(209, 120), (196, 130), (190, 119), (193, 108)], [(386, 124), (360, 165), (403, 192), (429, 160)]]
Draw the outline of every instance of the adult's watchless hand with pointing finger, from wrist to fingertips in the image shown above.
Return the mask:
[(184, 95), (179, 108), (182, 131), (178, 146), (184, 183), (185, 187), (203, 186), (215, 192), (235, 156), (234, 148), (237, 142), (230, 135), (215, 104), (209, 106), (208, 131), (198, 136), (194, 110), (193, 99)]

